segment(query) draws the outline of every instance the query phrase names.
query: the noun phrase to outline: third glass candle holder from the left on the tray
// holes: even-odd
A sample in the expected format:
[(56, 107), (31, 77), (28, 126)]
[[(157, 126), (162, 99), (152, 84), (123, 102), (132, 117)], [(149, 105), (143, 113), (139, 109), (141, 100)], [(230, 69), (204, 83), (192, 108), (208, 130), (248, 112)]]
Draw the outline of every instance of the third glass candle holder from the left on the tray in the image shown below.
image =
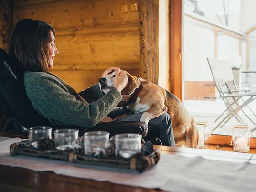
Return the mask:
[(85, 155), (105, 154), (109, 145), (109, 133), (106, 131), (90, 131), (84, 133)]

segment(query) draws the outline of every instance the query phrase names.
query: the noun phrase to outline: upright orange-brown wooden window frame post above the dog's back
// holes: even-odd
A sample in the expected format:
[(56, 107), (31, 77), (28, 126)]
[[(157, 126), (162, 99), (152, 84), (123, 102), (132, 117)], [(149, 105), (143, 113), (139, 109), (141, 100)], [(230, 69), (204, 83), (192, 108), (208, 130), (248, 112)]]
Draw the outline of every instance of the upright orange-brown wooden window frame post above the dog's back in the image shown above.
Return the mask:
[(170, 90), (181, 101), (183, 101), (182, 5), (183, 0), (169, 1)]

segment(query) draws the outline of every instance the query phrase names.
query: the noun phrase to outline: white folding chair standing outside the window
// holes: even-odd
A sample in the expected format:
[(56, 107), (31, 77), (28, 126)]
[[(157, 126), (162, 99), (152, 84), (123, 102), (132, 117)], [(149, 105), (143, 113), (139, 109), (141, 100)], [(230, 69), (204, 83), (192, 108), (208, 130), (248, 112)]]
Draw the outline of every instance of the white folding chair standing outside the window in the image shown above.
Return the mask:
[[(213, 131), (218, 128), (223, 122), (223, 127), (232, 117), (235, 117), (238, 122), (244, 122), (238, 112), (242, 111), (245, 116), (253, 123), (255, 122), (245, 113), (243, 107), (251, 103), (256, 98), (256, 93), (249, 92), (248, 90), (239, 90), (235, 84), (232, 67), (228, 61), (220, 59), (207, 58), (211, 73), (213, 75), (215, 86), (219, 92), (220, 98), (224, 101), (226, 109), (214, 121), (216, 122), (224, 114), (226, 116), (213, 128)], [(249, 110), (255, 115), (250, 107)], [(253, 130), (255, 130), (254, 128)]]

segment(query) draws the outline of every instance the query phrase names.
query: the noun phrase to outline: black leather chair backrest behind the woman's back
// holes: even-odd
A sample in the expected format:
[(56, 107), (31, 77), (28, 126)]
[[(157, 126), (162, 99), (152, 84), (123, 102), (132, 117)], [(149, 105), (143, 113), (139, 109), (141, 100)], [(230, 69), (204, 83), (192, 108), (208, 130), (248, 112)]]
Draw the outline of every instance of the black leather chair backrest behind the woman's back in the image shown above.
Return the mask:
[(26, 128), (52, 125), (32, 106), (23, 84), (23, 72), (0, 48), (0, 99), (14, 117)]

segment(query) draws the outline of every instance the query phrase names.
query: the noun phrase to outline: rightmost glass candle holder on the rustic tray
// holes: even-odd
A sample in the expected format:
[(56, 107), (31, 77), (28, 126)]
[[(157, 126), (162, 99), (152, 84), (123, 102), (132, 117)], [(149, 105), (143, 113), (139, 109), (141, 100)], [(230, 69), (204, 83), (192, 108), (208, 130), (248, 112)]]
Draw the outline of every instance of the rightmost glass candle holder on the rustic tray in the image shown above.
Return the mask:
[(115, 139), (115, 154), (123, 158), (130, 158), (141, 151), (141, 135), (135, 133), (117, 134)]

